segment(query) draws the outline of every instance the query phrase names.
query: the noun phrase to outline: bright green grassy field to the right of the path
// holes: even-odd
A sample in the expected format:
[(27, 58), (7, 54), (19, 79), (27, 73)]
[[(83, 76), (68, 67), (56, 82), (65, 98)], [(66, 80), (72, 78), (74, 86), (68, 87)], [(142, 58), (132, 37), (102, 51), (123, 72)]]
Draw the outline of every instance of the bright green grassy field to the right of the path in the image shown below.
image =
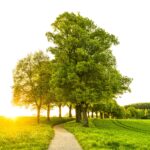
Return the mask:
[(150, 120), (90, 120), (90, 127), (68, 122), (83, 150), (150, 150)]

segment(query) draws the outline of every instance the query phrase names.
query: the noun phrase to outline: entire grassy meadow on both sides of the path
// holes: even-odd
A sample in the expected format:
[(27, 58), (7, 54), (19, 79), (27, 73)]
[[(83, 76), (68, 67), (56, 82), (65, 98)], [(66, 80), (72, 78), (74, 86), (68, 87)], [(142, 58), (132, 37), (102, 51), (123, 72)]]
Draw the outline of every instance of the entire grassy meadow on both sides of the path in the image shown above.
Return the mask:
[[(0, 150), (47, 150), (54, 136), (52, 126), (65, 123), (67, 118), (35, 117), (8, 119), (0, 117)], [(150, 120), (90, 119), (89, 127), (75, 121), (65, 123), (83, 150), (148, 150), (150, 149)]]

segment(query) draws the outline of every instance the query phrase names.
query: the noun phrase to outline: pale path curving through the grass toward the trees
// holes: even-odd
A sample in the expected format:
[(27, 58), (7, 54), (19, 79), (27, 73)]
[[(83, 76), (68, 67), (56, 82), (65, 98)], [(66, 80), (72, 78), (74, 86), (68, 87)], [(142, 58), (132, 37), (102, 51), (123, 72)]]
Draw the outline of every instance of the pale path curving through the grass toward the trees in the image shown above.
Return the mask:
[(74, 135), (63, 128), (63, 125), (54, 127), (55, 136), (48, 150), (82, 150)]

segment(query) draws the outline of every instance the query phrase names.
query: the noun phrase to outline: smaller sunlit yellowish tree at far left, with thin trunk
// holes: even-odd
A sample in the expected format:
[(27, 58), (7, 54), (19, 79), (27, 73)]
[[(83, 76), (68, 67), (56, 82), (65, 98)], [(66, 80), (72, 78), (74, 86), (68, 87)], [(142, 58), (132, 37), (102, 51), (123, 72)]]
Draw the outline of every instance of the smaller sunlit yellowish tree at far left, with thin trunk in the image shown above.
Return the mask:
[(49, 57), (38, 51), (21, 59), (13, 72), (13, 102), (36, 106), (38, 123), (41, 107), (49, 92), (49, 63)]

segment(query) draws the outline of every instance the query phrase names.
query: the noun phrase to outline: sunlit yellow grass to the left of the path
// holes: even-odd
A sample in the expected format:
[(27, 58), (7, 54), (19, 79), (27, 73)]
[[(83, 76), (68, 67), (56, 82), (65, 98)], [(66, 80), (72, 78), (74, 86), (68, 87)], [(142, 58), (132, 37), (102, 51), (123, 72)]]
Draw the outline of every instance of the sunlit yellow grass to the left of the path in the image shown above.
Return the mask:
[(51, 126), (66, 120), (52, 118), (47, 122), (41, 118), (37, 124), (35, 117), (0, 117), (0, 150), (47, 150), (54, 135)]

